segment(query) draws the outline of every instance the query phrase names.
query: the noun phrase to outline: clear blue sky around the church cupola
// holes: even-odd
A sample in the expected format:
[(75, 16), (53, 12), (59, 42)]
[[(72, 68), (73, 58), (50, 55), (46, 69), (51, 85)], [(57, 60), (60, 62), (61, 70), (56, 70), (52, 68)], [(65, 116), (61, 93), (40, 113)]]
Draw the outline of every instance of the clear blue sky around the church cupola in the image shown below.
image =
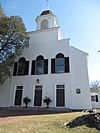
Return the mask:
[[(36, 30), (35, 18), (47, 9), (46, 0), (0, 0), (7, 16), (22, 17), (27, 31)], [(89, 54), (89, 82), (100, 80), (100, 0), (49, 0), (64, 38)]]

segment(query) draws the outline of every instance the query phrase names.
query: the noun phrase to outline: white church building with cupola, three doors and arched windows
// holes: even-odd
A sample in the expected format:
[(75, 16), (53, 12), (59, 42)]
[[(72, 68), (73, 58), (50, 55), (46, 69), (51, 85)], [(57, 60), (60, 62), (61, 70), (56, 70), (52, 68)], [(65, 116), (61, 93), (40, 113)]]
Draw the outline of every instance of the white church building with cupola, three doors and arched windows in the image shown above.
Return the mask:
[(15, 60), (12, 76), (0, 86), (0, 107), (91, 109), (86, 52), (64, 39), (57, 17), (50, 10), (36, 17), (36, 31), (28, 32), (29, 47)]

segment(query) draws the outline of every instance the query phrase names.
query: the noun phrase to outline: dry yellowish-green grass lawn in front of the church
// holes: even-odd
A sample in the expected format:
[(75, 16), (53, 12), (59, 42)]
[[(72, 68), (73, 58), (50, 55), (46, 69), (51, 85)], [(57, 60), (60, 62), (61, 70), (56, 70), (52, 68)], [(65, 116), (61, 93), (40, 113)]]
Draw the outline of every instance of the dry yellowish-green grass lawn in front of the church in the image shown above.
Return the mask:
[(74, 118), (83, 115), (82, 112), (19, 116), (17, 119), (0, 125), (0, 133), (100, 133), (95, 128), (85, 125), (68, 128), (63, 123), (69, 123)]

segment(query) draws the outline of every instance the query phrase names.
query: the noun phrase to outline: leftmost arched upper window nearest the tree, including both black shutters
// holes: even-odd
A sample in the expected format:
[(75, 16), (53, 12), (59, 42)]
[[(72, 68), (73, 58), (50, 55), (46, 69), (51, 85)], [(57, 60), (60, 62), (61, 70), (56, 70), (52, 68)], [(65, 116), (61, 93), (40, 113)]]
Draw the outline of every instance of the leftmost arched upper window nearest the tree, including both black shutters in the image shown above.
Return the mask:
[(24, 57), (21, 57), (18, 62), (14, 63), (13, 76), (28, 75), (29, 61), (26, 61)]

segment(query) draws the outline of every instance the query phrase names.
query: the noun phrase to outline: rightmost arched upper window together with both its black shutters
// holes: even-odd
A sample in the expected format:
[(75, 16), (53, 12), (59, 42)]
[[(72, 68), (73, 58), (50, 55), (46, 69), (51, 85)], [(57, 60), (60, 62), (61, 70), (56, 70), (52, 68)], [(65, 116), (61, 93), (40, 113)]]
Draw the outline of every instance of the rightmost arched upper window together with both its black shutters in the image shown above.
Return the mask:
[(62, 53), (51, 59), (51, 73), (69, 73), (69, 57), (64, 57)]

